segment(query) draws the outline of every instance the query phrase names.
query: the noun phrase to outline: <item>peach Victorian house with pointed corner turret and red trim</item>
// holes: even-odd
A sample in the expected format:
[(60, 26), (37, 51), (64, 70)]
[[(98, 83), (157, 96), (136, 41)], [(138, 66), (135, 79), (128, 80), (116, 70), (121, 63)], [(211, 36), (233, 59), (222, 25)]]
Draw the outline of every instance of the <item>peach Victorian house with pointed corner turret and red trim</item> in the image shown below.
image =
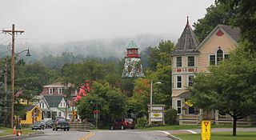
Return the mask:
[[(205, 111), (190, 103), (188, 88), (193, 84), (194, 74), (209, 72), (208, 68), (218, 65), (229, 58), (231, 50), (238, 45), (239, 28), (218, 25), (201, 42), (198, 42), (189, 21), (172, 57), (172, 107), (178, 110), (179, 124), (198, 124), (202, 119), (212, 120), (216, 124), (232, 123), (227, 114), (218, 114), (218, 110)], [(251, 116), (238, 121), (238, 124), (254, 123)]]

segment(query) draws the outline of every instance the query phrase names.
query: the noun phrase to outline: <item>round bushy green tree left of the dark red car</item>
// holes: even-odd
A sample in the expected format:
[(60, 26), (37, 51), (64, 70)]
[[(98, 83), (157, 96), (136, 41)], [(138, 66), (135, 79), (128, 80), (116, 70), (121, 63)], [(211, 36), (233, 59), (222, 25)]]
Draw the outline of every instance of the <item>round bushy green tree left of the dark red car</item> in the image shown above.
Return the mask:
[(90, 93), (78, 102), (78, 114), (94, 122), (94, 110), (99, 110), (99, 126), (109, 126), (110, 121), (126, 116), (126, 96), (108, 82), (94, 82)]

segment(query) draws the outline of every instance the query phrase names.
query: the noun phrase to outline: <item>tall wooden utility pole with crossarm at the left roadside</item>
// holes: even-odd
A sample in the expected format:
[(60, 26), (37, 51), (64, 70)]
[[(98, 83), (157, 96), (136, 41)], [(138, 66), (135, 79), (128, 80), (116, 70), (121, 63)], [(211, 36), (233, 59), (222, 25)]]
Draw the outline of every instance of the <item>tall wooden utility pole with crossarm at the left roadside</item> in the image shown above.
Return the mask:
[(15, 34), (22, 34), (24, 30), (15, 30), (15, 25), (13, 24), (12, 30), (2, 30), (3, 33), (8, 33), (12, 36), (12, 50), (11, 50), (11, 64), (10, 64), (10, 82), (11, 82), (11, 114), (10, 114), (10, 127), (14, 128), (14, 63), (15, 63), (15, 51), (14, 51), (14, 41)]

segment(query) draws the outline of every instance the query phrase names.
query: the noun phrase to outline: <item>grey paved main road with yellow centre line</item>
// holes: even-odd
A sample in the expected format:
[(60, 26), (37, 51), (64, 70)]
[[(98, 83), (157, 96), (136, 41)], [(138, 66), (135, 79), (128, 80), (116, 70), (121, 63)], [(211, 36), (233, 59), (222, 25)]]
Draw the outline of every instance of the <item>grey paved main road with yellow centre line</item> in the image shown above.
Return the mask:
[(161, 131), (141, 131), (141, 130), (92, 130), (85, 131), (53, 131), (51, 129), (42, 130), (45, 134), (25, 136), (22, 138), (6, 138), (8, 140), (170, 140)]

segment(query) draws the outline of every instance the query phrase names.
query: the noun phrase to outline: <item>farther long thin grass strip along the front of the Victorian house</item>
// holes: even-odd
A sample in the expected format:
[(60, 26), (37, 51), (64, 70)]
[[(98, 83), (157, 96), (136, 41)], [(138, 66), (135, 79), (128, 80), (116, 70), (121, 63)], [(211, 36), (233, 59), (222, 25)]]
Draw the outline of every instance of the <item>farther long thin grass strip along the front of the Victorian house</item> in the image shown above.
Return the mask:
[[(255, 126), (238, 126), (238, 127), (255, 127)], [(211, 128), (232, 128), (231, 125), (211, 125)], [(201, 129), (201, 126), (182, 125), (182, 126), (152, 126), (152, 127), (136, 127), (138, 130), (194, 130)]]

